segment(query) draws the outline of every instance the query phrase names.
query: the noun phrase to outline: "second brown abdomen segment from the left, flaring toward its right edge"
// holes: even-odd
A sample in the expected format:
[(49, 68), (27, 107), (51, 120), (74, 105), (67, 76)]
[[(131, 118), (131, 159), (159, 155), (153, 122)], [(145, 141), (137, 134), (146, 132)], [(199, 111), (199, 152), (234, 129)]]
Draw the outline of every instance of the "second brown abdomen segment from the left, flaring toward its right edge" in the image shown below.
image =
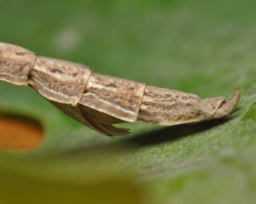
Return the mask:
[(29, 78), (33, 81), (34, 88), (45, 98), (76, 106), (91, 71), (80, 64), (37, 57)]

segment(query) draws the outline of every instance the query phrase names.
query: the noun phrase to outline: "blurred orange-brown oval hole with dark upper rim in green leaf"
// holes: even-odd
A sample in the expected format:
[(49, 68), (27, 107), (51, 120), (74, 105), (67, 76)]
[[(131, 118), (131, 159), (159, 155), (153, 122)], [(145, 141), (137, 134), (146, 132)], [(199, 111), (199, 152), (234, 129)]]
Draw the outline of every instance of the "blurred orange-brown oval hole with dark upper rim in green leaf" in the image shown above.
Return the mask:
[(32, 118), (0, 113), (0, 151), (25, 152), (43, 141), (41, 124)]

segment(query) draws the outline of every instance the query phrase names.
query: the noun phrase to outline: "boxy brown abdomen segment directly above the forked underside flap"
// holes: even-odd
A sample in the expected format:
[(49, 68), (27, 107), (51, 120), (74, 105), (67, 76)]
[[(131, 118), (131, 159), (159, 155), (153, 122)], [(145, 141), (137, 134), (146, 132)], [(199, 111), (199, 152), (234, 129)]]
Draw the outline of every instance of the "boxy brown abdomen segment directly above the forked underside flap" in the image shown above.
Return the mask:
[(79, 103), (115, 118), (135, 122), (145, 86), (140, 82), (92, 73)]

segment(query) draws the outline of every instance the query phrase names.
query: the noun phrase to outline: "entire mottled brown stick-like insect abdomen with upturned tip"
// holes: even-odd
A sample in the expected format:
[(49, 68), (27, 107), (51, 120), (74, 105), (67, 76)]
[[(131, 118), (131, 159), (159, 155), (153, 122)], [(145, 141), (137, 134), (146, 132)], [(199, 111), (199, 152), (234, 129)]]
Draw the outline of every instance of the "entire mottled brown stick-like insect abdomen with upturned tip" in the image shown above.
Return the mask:
[(196, 123), (228, 115), (240, 99), (200, 99), (195, 94), (148, 86), (110, 77), (90, 68), (0, 43), (0, 80), (30, 86), (62, 112), (104, 135), (126, 135), (112, 124), (146, 122), (154, 125)]

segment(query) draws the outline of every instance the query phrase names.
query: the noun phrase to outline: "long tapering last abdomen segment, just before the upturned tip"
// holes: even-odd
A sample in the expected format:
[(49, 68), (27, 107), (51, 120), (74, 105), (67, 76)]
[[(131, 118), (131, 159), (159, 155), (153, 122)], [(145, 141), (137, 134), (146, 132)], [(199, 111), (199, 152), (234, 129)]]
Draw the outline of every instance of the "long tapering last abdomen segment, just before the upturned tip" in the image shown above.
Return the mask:
[(200, 99), (195, 94), (146, 86), (138, 120), (166, 126), (198, 122), (210, 119), (225, 100)]

